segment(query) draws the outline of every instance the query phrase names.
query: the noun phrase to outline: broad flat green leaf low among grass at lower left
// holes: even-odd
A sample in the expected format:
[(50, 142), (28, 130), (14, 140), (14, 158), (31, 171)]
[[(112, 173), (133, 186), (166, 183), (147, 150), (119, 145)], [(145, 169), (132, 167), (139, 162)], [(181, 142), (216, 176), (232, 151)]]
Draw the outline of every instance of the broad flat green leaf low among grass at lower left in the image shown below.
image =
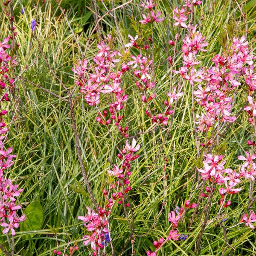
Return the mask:
[[(24, 210), (26, 220), (20, 223), (20, 231), (39, 230), (43, 223), (43, 207), (39, 200), (29, 204)], [(33, 234), (26, 235), (25, 239), (33, 237)]]

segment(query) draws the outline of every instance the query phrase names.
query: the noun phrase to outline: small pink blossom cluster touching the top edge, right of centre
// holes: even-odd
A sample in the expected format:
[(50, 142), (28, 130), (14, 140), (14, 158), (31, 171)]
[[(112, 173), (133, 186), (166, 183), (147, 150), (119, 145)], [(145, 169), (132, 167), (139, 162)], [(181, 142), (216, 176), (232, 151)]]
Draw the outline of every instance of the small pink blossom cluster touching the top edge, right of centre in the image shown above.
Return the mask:
[(147, 12), (147, 14), (142, 14), (143, 20), (139, 20), (142, 24), (154, 23), (155, 21), (160, 23), (164, 20), (164, 18), (160, 18), (161, 12), (154, 11), (154, 8), (157, 6), (156, 3), (153, 3), (153, 0), (144, 0), (143, 3), (140, 4), (143, 9)]

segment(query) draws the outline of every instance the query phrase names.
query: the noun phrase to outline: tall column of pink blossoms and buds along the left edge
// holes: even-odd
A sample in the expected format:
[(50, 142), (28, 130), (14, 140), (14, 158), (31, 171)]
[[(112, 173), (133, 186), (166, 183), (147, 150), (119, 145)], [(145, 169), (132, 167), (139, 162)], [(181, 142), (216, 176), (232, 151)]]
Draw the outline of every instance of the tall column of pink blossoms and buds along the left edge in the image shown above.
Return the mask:
[[(5, 38), (0, 42), (0, 103), (9, 101), (7, 93), (3, 93), (6, 83), (12, 88), (13, 79), (9, 79), (9, 62), (11, 56), (6, 53), (6, 49), (10, 48), (7, 44), (9, 38)], [(19, 222), (25, 220), (25, 215), (19, 217), (17, 210), (21, 209), (20, 204), (16, 204), (16, 199), (23, 189), (18, 189), (18, 185), (14, 185), (12, 180), (6, 178), (7, 169), (13, 165), (13, 158), (16, 157), (12, 153), (12, 147), (5, 149), (5, 140), (8, 132), (3, 117), (7, 114), (6, 110), (0, 111), (0, 225), (4, 227), (3, 233), (11, 232), (15, 236), (15, 228), (19, 227)]]

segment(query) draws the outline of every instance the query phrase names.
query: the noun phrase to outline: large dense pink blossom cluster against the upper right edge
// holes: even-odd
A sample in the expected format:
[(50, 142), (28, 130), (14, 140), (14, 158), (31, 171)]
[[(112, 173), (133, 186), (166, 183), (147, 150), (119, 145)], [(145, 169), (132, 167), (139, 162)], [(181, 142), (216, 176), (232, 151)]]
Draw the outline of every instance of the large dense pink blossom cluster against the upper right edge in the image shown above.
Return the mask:
[[(206, 83), (203, 88), (198, 84), (198, 90), (194, 94), (199, 105), (204, 107), (205, 114), (201, 113), (198, 117), (198, 131), (204, 132), (217, 122), (235, 122), (236, 116), (231, 116), (233, 108), (234, 89), (241, 85), (240, 78), (247, 79), (248, 90), (255, 89), (255, 78), (248, 74), (252, 72), (253, 55), (248, 50), (248, 42), (244, 42), (244, 36), (233, 38), (233, 43), (227, 47), (222, 56), (215, 55), (212, 58), (214, 66), (200, 73), (201, 81)], [(250, 65), (243, 67), (244, 64)], [(253, 73), (250, 73), (253, 74)], [(253, 111), (254, 105), (252, 98), (248, 96), (250, 106), (246, 111)], [(256, 114), (256, 111), (254, 111)]]

